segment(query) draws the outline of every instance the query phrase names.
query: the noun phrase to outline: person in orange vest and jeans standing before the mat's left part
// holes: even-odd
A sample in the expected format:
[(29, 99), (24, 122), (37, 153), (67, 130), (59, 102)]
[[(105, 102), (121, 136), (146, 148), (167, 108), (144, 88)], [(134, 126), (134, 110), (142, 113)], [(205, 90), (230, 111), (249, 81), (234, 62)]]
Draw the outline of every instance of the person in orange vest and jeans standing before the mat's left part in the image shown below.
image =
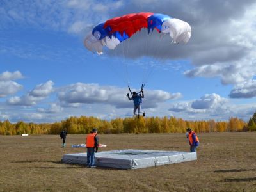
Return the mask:
[(97, 129), (93, 128), (90, 134), (86, 136), (87, 148), (87, 167), (96, 168), (95, 166), (95, 153), (98, 152), (99, 138), (97, 137)]

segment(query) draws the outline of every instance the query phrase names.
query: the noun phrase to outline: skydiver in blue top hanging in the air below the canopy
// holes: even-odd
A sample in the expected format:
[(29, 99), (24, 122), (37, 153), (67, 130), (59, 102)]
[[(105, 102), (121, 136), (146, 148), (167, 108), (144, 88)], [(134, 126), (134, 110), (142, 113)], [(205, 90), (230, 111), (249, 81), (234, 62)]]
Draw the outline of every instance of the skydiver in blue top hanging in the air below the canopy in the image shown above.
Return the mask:
[(134, 103), (133, 114), (134, 115), (137, 115), (136, 111), (138, 109), (138, 118), (140, 118), (140, 113), (142, 113), (143, 116), (145, 116), (145, 111), (140, 111), (141, 110), (141, 104), (142, 104), (142, 98), (144, 98), (143, 87), (144, 87), (144, 85), (142, 84), (141, 91), (136, 93), (136, 92), (131, 92), (131, 89), (128, 86), (129, 91), (132, 93), (132, 97), (129, 97), (129, 93), (127, 93), (127, 97), (128, 97), (129, 100), (133, 100), (133, 103)]

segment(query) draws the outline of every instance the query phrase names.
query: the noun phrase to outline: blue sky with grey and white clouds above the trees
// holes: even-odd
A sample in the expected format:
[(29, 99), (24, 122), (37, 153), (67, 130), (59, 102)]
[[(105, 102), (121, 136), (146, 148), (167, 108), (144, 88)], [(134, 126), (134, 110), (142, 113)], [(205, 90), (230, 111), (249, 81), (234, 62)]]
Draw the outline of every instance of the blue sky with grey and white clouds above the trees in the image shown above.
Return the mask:
[[(185, 20), (191, 39), (173, 45), (164, 37), (157, 51), (141, 58), (132, 38), (134, 52), (125, 58), (116, 57), (124, 56), (118, 50), (99, 56), (84, 47), (93, 26), (138, 12)], [(142, 106), (147, 116), (248, 120), (256, 111), (255, 20), (255, 1), (3, 0), (0, 120), (132, 116), (127, 82), (138, 90), (149, 72)]]

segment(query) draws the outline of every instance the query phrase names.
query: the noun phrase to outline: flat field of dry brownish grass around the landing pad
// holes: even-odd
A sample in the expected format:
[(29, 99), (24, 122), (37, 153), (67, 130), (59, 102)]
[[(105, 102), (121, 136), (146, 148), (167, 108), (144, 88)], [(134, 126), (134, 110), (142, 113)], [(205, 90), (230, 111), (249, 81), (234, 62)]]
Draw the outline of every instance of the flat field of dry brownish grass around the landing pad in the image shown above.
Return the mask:
[[(198, 134), (198, 160), (139, 170), (61, 164), (85, 135), (0, 136), (0, 191), (256, 191), (256, 132)], [(100, 150), (188, 151), (184, 134), (99, 134)]]

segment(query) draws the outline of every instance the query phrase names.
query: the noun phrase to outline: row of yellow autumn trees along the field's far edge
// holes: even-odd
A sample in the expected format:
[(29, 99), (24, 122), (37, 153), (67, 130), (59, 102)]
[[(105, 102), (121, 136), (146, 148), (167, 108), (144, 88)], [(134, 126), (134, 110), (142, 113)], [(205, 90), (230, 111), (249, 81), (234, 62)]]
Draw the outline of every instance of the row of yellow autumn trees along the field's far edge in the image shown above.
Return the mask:
[(239, 118), (229, 118), (228, 121), (215, 120), (183, 120), (175, 117), (147, 117), (147, 118), (115, 118), (101, 120), (92, 116), (70, 117), (52, 124), (35, 124), (26, 122), (11, 123), (0, 121), (1, 135), (19, 134), (60, 134), (66, 129), (68, 134), (87, 134), (93, 128), (99, 133), (182, 133), (190, 127), (195, 132), (230, 132), (256, 131), (256, 113), (246, 123)]

